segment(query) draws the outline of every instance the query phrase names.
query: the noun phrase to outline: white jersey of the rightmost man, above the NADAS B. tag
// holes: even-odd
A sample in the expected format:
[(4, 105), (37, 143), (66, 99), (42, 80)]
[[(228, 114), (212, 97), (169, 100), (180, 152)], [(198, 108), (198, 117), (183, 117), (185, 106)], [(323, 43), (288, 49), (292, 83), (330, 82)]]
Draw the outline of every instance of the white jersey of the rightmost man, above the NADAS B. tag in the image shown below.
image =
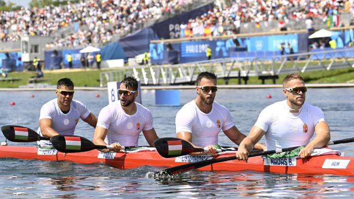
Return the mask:
[(299, 113), (290, 113), (285, 101), (263, 109), (255, 126), (265, 131), (267, 150), (307, 145), (315, 132), (315, 126), (325, 121), (322, 110), (304, 103)]

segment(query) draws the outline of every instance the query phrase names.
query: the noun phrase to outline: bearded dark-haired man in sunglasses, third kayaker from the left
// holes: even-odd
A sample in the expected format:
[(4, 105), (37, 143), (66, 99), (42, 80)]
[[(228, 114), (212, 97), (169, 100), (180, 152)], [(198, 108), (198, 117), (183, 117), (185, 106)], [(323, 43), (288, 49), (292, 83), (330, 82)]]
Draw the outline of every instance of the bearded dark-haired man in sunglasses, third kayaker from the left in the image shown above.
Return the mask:
[[(214, 102), (217, 91), (216, 75), (202, 72), (197, 77), (197, 97), (187, 103), (176, 114), (176, 136), (191, 142), (195, 147), (205, 147), (207, 154), (215, 154), (218, 134), (224, 131), (231, 141), (240, 144), (246, 137), (234, 125), (230, 111)], [(265, 146), (256, 144), (256, 150), (263, 151)], [(195, 152), (190, 155), (200, 155)]]

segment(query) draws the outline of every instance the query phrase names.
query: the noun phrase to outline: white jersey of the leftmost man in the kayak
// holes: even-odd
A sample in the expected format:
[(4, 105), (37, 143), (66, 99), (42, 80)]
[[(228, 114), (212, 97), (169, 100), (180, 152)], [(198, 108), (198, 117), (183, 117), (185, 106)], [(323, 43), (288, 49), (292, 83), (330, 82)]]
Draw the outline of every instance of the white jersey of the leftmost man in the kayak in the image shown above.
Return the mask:
[[(72, 100), (70, 103), (70, 110), (67, 114), (64, 114), (59, 106), (58, 100), (49, 101), (44, 104), (40, 109), (39, 120), (43, 118), (49, 118), (53, 121), (53, 129), (62, 135), (73, 135), (75, 127), (79, 122), (79, 119), (86, 119), (90, 115), (90, 111), (86, 108), (84, 104), (79, 101)], [(38, 134), (42, 136), (40, 127), (38, 128)], [(40, 146), (49, 146), (52, 145), (49, 140), (40, 140), (38, 142)]]

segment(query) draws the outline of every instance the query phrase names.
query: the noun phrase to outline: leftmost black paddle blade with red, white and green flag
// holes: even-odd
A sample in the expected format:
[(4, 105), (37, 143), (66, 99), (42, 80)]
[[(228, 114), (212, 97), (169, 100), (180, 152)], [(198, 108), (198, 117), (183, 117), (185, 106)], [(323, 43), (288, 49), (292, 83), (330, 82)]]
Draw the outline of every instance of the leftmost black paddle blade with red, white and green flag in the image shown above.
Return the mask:
[(48, 137), (40, 137), (34, 130), (23, 126), (6, 125), (2, 126), (1, 130), (4, 133), (4, 136), (13, 142), (32, 142), (40, 139), (49, 140)]

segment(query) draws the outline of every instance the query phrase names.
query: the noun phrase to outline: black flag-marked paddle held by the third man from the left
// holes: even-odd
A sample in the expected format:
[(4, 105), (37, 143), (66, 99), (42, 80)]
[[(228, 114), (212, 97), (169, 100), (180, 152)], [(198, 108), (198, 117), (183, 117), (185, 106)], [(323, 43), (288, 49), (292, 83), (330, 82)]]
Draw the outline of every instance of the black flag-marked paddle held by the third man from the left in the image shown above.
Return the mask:
[[(206, 148), (196, 148), (190, 142), (176, 137), (158, 138), (154, 140), (154, 144), (157, 152), (160, 154), (160, 156), (164, 158), (185, 156), (193, 152), (208, 152)], [(234, 150), (217, 149), (216, 153), (226, 152), (226, 151), (236, 151), (236, 150), (237, 148), (235, 148)]]

